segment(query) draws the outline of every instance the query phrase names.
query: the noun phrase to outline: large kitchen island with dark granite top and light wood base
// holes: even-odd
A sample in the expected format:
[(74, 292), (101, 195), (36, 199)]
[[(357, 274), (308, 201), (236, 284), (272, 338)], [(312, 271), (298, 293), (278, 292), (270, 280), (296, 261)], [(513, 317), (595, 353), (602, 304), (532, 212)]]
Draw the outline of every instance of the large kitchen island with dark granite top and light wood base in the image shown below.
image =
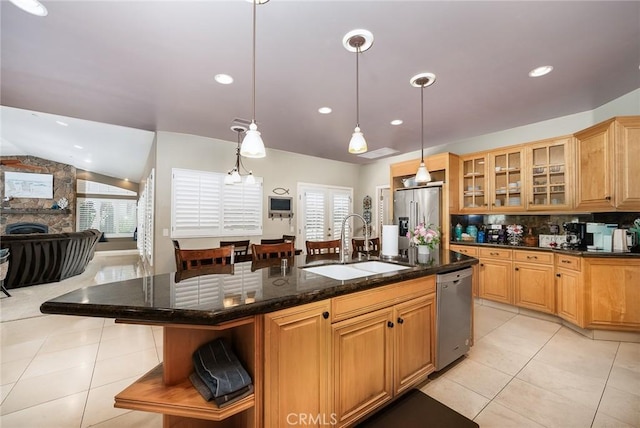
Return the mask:
[[(304, 269), (335, 264), (334, 256), (299, 255), (286, 266), (244, 262), (180, 282), (161, 274), (86, 287), (45, 302), (41, 311), (163, 326), (163, 363), (118, 394), (115, 405), (162, 413), (165, 427), (286, 426), (292, 417), (298, 424), (305, 418), (348, 426), (433, 371), (435, 274), (477, 263), (444, 250), (420, 261), (394, 260), (402, 270), (349, 280)], [(420, 361), (403, 353), (418, 336)], [(194, 350), (218, 337), (229, 339), (254, 384), (253, 394), (222, 408), (188, 379)], [(380, 339), (371, 348), (376, 355), (350, 348), (362, 338)], [(346, 367), (353, 358), (362, 363)], [(382, 367), (373, 395), (348, 396), (358, 377), (344, 370), (357, 373), (367, 364), (376, 373)]]

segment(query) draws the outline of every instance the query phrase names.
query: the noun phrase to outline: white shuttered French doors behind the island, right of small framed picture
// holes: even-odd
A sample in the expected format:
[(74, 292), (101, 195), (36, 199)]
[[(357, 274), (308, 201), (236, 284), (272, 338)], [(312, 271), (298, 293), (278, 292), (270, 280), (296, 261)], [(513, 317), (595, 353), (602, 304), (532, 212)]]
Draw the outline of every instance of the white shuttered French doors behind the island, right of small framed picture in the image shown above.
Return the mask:
[[(298, 229), (302, 241), (340, 239), (342, 220), (352, 212), (352, 195), (351, 188), (300, 184)], [(352, 235), (349, 228), (345, 234)]]

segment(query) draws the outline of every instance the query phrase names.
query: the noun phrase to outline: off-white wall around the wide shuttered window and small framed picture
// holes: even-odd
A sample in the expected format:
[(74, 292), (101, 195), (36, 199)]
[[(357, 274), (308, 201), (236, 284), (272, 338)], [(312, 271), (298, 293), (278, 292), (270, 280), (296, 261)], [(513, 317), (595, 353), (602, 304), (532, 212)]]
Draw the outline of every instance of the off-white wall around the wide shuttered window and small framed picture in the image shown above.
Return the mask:
[[(283, 234), (294, 234), (297, 209), (294, 205), (294, 218), (291, 226), (288, 220), (270, 220), (267, 218), (267, 197), (275, 195), (273, 189), (289, 189), (296, 200), (297, 183), (317, 183), (334, 186), (356, 187), (360, 166), (337, 162), (312, 156), (269, 149), (269, 140), (265, 139), (267, 156), (262, 159), (243, 159), (247, 169), (264, 180), (263, 237), (280, 238)], [(237, 143), (195, 135), (158, 132), (156, 141), (156, 212), (155, 212), (155, 273), (175, 270), (173, 244), (170, 236), (163, 236), (163, 230), (171, 229), (171, 169), (186, 168), (200, 171), (227, 172), (236, 161)], [(358, 204), (354, 204), (358, 207)], [(259, 242), (260, 236), (225, 237), (226, 239), (247, 239)], [(180, 239), (183, 248), (215, 247), (219, 238)], [(302, 248), (300, 244), (296, 245)]]

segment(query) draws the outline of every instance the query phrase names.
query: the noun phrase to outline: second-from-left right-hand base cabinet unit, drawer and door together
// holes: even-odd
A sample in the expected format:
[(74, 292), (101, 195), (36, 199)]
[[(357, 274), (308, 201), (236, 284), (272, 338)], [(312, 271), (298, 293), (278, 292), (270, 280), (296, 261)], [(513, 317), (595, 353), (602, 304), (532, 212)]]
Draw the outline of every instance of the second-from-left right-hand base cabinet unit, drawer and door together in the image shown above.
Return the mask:
[(513, 252), (513, 288), (516, 306), (555, 313), (553, 254), (541, 251)]

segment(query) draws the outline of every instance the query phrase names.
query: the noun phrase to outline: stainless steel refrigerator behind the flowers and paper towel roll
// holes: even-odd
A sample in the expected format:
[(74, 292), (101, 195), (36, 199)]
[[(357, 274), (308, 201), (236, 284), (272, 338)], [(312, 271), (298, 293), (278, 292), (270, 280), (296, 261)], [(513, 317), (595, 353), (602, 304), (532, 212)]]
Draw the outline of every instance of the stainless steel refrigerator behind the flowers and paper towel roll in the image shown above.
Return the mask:
[(442, 184), (398, 189), (394, 193), (393, 223), (399, 226), (398, 252), (400, 255), (406, 255), (409, 248), (408, 231), (413, 231), (420, 223), (440, 227)]

